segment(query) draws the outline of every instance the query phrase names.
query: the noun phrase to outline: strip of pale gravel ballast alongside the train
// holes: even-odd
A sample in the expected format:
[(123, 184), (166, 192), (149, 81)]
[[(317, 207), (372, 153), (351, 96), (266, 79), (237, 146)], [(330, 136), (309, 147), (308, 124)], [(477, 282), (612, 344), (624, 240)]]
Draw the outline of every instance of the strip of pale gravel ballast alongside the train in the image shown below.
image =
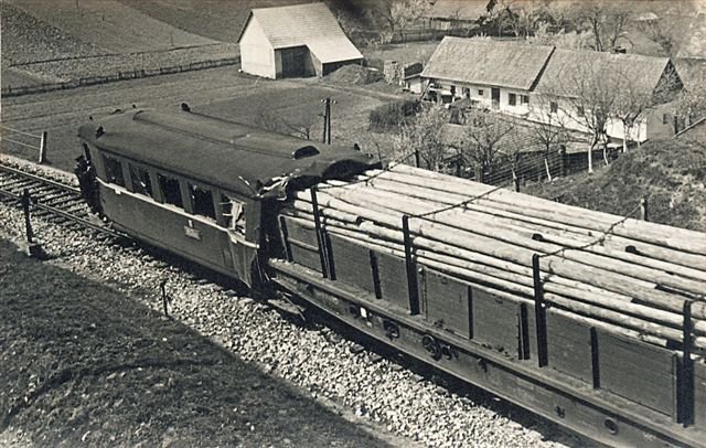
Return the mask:
[[(21, 242), (21, 212), (0, 204), (0, 238)], [(355, 354), (355, 343), (331, 337), (327, 328), (312, 331), (295, 324), (260, 302), (234, 297), (139, 248), (100, 243), (41, 220), (34, 220), (34, 227), (52, 257), (45, 263), (111, 285), (156, 310), (162, 308), (159, 284), (165, 280), (174, 319), (261, 371), (395, 435), (435, 447), (584, 444), (486, 394), (459, 396), (392, 361)]]

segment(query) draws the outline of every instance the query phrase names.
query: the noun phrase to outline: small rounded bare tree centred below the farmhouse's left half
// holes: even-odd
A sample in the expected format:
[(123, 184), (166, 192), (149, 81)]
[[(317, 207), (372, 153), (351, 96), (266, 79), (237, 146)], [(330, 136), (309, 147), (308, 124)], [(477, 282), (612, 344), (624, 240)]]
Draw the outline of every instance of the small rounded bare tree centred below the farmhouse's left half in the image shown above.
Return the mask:
[(459, 149), (461, 160), (489, 171), (501, 156), (517, 152), (514, 125), (500, 114), (471, 109), (466, 114), (464, 141)]

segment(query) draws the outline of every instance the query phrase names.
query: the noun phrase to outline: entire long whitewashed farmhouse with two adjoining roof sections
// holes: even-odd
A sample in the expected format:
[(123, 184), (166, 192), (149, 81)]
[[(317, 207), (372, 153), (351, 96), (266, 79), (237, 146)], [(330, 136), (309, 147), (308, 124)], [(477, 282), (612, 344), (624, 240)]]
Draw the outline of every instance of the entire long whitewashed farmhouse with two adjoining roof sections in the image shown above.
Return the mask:
[[(682, 88), (666, 57), (460, 38), (443, 39), (421, 77), (427, 99), (467, 98), (478, 107), (585, 132), (586, 117), (598, 106), (577, 98), (606, 90), (608, 137), (632, 141), (674, 134), (670, 100)], [(620, 117), (618, 98), (623, 109), (634, 103)]]

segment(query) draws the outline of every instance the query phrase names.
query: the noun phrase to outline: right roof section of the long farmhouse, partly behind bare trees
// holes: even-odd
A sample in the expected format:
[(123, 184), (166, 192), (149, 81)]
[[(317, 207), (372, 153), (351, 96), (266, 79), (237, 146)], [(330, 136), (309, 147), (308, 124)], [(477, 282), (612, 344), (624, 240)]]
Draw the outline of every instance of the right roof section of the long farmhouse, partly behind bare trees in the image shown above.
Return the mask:
[(575, 96), (580, 90), (578, 81), (591, 73), (603, 73), (606, 76), (624, 74), (635, 92), (651, 95), (668, 64), (668, 57), (556, 49), (535, 90)]

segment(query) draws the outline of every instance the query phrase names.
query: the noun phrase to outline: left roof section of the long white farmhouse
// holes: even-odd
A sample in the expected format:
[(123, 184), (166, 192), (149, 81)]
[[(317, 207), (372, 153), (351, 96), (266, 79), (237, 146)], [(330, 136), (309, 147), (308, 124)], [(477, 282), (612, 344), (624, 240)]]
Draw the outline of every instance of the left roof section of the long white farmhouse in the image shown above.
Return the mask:
[(530, 90), (553, 51), (546, 45), (447, 36), (421, 76)]

